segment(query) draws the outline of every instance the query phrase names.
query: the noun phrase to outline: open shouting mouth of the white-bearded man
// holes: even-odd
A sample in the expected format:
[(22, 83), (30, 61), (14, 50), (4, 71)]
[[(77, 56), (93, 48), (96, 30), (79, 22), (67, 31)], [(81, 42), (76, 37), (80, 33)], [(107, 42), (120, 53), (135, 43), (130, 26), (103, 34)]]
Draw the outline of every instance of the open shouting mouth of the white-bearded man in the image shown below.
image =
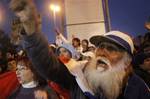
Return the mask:
[(108, 69), (108, 64), (102, 59), (97, 60), (96, 69), (100, 72), (106, 71)]

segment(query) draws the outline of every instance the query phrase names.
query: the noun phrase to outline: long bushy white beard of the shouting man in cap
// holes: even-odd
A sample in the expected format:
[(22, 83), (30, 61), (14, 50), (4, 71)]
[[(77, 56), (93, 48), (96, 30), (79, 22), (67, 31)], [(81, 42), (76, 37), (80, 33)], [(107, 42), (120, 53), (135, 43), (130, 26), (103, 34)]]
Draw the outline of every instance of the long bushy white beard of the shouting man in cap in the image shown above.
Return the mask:
[(105, 62), (107, 62), (109, 68), (103, 72), (97, 69), (96, 58), (93, 58), (89, 62), (84, 74), (90, 88), (95, 94), (103, 93), (107, 99), (116, 99), (119, 96), (123, 86), (123, 79), (126, 75), (124, 61), (126, 61), (126, 57), (122, 58), (115, 66), (110, 66), (109, 61), (106, 60)]

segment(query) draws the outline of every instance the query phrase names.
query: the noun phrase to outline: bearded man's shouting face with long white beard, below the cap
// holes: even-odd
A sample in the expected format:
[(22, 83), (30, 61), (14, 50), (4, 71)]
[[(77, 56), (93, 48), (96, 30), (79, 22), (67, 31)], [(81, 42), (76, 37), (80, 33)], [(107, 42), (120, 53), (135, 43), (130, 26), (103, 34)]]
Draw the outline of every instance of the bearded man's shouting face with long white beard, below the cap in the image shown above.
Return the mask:
[(99, 45), (95, 55), (84, 71), (89, 86), (94, 93), (102, 90), (107, 99), (116, 99), (126, 74), (128, 54), (115, 44), (104, 42)]

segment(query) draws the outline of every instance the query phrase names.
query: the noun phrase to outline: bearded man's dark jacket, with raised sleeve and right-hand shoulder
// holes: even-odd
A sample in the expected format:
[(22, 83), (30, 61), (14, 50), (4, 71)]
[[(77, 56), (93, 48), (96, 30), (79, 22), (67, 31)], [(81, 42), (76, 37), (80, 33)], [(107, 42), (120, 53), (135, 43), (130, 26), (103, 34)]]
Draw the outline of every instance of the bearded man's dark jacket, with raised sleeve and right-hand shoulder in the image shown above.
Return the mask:
[[(31, 36), (24, 36), (24, 48), (38, 72), (45, 79), (52, 80), (61, 87), (70, 91), (71, 99), (103, 99), (100, 96), (90, 97), (84, 94), (78, 86), (75, 77), (70, 74), (66, 66), (62, 64), (52, 51), (48, 50), (48, 42), (41, 33), (34, 33)], [(128, 79), (124, 93), (119, 99), (150, 99), (149, 90), (145, 83), (136, 75)], [(85, 96), (86, 95), (86, 96)]]

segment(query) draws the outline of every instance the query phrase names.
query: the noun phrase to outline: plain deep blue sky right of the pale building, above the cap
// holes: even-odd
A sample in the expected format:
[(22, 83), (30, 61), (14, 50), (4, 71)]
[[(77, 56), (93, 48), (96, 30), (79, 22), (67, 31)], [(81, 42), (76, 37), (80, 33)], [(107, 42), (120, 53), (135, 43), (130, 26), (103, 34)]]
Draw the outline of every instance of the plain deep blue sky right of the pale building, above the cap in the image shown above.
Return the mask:
[(144, 23), (150, 16), (150, 0), (108, 0), (112, 30), (132, 36), (144, 35)]

